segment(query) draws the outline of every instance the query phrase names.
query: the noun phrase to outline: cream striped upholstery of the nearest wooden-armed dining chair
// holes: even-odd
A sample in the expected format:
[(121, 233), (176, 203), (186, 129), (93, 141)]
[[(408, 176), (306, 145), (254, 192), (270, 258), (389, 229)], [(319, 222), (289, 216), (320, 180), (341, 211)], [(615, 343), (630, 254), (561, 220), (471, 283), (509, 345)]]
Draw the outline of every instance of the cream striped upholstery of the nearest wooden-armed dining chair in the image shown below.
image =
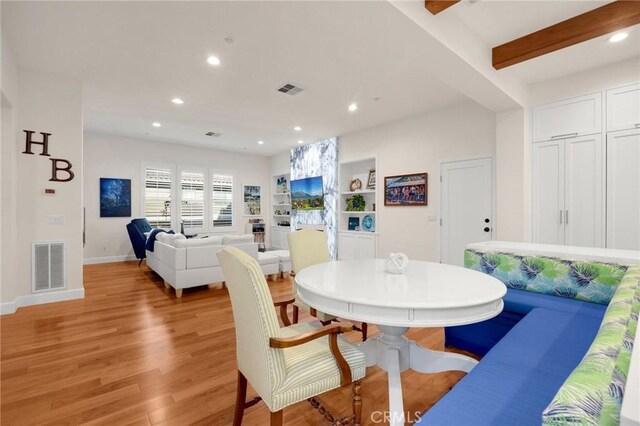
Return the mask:
[[(340, 387), (340, 371), (327, 336), (286, 349), (270, 347), (272, 337), (293, 337), (314, 327), (308, 323), (280, 327), (271, 293), (256, 260), (235, 247), (220, 251), (218, 259), (233, 307), (238, 370), (269, 410), (277, 412)], [(352, 380), (361, 380), (365, 375), (364, 354), (341, 338), (338, 347), (349, 364)]]

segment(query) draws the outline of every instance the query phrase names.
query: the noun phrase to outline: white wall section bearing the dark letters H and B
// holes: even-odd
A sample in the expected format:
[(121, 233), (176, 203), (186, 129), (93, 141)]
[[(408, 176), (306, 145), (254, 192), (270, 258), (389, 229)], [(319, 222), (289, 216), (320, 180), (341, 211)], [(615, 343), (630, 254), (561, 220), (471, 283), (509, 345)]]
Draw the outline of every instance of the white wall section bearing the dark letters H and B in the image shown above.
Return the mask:
[[(16, 188), (17, 244), (13, 252), (3, 252), (3, 263), (14, 265), (16, 270), (14, 280), (3, 280), (3, 313), (12, 312), (22, 305), (82, 297), (84, 294), (81, 222), (82, 86), (74, 80), (23, 68), (18, 68), (17, 79), (17, 101), (13, 110), (13, 156), (17, 157), (16, 179), (13, 184)], [(23, 129), (51, 133), (51, 157), (22, 154), (25, 143)], [(41, 135), (37, 134), (34, 139), (41, 140)], [(39, 154), (40, 146), (34, 145), (33, 151)], [(70, 161), (75, 179), (70, 182), (50, 182), (50, 158)], [(11, 173), (3, 168), (3, 183), (5, 177), (12, 178)], [(45, 188), (55, 189), (56, 194), (44, 195)], [(3, 210), (10, 211), (4, 205)], [(53, 215), (64, 217), (64, 224), (49, 225), (49, 218)], [(34, 241), (47, 240), (62, 240), (67, 243), (68, 290), (34, 295), (31, 292), (31, 245)]]

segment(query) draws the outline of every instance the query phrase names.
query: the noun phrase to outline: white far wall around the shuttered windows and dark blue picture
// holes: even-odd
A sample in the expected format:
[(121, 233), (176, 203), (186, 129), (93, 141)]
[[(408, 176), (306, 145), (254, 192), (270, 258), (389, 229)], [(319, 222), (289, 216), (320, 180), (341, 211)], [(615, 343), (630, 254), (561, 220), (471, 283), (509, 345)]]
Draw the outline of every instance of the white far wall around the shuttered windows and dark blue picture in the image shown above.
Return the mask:
[[(142, 165), (145, 162), (217, 169), (231, 173), (235, 185), (234, 233), (244, 233), (244, 226), (249, 219), (242, 215), (242, 184), (261, 185), (262, 217), (269, 224), (271, 177), (267, 157), (90, 132), (85, 133), (84, 139), (84, 199), (87, 221), (84, 259), (87, 263), (132, 258), (133, 250), (126, 224), (143, 214), (140, 188)], [(131, 218), (100, 218), (101, 177), (131, 179)]]

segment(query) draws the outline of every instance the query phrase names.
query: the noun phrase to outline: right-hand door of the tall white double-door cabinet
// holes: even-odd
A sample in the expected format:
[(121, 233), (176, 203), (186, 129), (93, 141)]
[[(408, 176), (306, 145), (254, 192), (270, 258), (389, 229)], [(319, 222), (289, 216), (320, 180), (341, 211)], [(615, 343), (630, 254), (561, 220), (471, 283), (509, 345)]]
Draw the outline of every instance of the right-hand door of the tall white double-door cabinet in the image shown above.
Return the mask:
[(565, 244), (602, 247), (602, 137), (565, 141)]

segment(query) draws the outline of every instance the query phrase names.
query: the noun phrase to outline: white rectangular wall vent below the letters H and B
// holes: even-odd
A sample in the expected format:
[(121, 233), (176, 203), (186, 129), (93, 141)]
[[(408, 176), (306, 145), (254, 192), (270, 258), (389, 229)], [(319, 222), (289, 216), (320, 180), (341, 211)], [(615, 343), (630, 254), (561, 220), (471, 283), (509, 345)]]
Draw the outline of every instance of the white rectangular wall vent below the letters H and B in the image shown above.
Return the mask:
[(34, 242), (31, 251), (31, 290), (67, 287), (67, 248), (64, 241)]

